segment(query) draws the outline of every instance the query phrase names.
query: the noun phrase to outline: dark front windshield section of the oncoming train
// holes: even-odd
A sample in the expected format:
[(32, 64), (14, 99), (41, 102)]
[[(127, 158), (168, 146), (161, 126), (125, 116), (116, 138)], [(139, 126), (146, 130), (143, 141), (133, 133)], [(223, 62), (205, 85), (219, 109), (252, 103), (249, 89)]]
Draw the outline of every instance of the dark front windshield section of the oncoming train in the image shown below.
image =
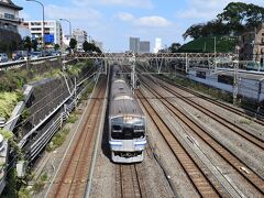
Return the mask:
[(111, 136), (118, 140), (131, 140), (145, 136), (143, 118), (120, 117), (111, 120)]

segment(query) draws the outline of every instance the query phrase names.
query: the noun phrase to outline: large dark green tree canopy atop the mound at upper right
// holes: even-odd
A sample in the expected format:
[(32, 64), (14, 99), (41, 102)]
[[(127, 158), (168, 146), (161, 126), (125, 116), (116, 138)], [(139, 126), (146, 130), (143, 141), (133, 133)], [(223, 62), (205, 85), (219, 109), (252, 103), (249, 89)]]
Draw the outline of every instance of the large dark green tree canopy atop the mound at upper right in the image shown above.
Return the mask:
[(188, 36), (196, 40), (206, 36), (218, 35), (240, 35), (245, 30), (254, 30), (262, 24), (264, 8), (243, 2), (230, 2), (217, 15), (217, 19), (207, 23), (193, 24), (183, 34), (186, 40)]

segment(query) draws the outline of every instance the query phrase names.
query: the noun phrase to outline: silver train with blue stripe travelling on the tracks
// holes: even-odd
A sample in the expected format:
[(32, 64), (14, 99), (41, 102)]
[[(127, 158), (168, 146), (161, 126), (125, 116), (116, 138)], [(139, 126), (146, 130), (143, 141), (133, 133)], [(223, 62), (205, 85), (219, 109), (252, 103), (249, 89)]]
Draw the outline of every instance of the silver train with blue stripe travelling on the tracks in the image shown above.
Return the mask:
[(146, 121), (118, 65), (112, 67), (109, 101), (109, 144), (114, 163), (143, 161)]

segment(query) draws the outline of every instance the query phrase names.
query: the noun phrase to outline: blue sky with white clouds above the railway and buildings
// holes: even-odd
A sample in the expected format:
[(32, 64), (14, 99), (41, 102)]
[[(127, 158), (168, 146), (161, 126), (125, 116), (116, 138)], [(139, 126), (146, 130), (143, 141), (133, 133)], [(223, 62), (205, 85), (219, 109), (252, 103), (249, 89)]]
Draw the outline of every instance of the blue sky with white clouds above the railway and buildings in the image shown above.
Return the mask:
[[(73, 29), (87, 31), (94, 40), (103, 43), (106, 52), (129, 50), (129, 37), (150, 41), (153, 51), (155, 37), (164, 46), (184, 44), (184, 32), (193, 24), (207, 22), (228, 6), (229, 0), (38, 0), (45, 7), (45, 20), (67, 19)], [(13, 0), (23, 7), (20, 18), (42, 20), (42, 7), (26, 0)], [(238, 1), (233, 1), (238, 2)], [(264, 0), (243, 0), (264, 7)], [(64, 34), (68, 23), (62, 22)]]

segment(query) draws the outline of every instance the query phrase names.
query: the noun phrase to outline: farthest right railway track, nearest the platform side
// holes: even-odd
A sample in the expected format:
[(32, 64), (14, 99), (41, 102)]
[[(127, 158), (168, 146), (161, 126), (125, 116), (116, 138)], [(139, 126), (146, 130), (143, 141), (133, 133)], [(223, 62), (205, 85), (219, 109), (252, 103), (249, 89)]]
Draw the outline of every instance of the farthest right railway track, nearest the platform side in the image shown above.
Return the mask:
[(194, 91), (194, 90), (191, 90), (189, 88), (186, 88), (184, 86), (180, 86), (180, 85), (177, 85), (177, 84), (173, 84), (173, 82), (170, 82), (167, 79), (163, 79), (163, 80), (165, 80), (170, 86), (174, 86), (174, 87), (177, 87), (177, 88), (179, 88), (182, 90), (185, 90), (186, 92), (191, 94), (191, 95), (194, 95), (196, 97), (199, 97), (199, 98), (201, 98), (204, 100), (207, 100), (208, 102), (213, 103), (213, 105), (216, 105), (218, 107), (222, 107), (223, 109), (227, 109), (227, 110), (229, 110), (229, 111), (231, 111), (231, 112), (233, 112), (233, 113), (235, 113), (238, 116), (244, 117), (244, 118), (246, 118), (249, 120), (252, 120), (252, 118), (255, 118), (254, 122), (264, 125), (264, 114), (258, 114), (257, 112), (252, 111), (250, 109), (241, 110), (241, 109), (231, 107), (231, 106), (229, 106), (227, 103), (223, 103), (223, 102), (219, 101), (218, 99), (212, 99), (210, 97), (207, 97), (207, 96), (205, 96), (202, 94)]

